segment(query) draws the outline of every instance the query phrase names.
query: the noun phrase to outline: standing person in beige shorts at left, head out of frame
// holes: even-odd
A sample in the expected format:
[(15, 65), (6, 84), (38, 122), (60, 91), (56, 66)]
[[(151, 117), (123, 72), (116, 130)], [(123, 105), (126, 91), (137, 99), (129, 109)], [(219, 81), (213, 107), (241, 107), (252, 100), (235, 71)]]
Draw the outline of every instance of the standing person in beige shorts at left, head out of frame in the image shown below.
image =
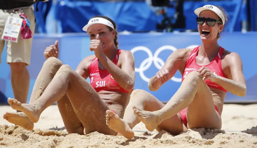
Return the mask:
[[(30, 22), (29, 28), (34, 34), (34, 2), (1, 0), (0, 3), (0, 37), (2, 37), (7, 17), (11, 16), (20, 18), (21, 14), (27, 16), (27, 19)], [(1, 54), (6, 43), (7, 63), (11, 68), (13, 94), (14, 97), (22, 103), (27, 102), (29, 93), (29, 72), (27, 65), (30, 65), (32, 39), (33, 37), (29, 39), (21, 39), (21, 32), (17, 43), (0, 39), (0, 63), (2, 61)]]

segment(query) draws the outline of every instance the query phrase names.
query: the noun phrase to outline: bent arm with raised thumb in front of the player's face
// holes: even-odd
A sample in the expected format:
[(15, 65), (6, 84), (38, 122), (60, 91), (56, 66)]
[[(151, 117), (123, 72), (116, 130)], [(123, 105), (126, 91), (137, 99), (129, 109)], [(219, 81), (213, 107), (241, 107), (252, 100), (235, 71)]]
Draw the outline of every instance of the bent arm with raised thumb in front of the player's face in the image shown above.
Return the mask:
[(95, 52), (95, 56), (101, 61), (105, 68), (109, 71), (113, 79), (125, 90), (130, 91), (134, 87), (135, 69), (134, 57), (129, 51), (122, 51), (119, 55), (118, 64), (121, 63), (121, 68), (111, 61), (102, 51), (102, 44), (99, 40), (99, 34), (96, 40), (91, 40), (90, 50)]

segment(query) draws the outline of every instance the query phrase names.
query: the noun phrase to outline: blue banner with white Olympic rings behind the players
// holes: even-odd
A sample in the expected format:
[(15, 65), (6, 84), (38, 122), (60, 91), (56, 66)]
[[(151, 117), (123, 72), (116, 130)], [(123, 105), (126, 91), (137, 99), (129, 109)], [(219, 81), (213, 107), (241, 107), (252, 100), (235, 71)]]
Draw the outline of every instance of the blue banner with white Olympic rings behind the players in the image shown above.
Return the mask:
[[(247, 93), (245, 97), (227, 94), (225, 102), (257, 102), (257, 32), (225, 33), (218, 41), (226, 50), (237, 52), (243, 62), (243, 72), (246, 78)], [(29, 97), (37, 75), (45, 61), (43, 51), (45, 47), (59, 40), (59, 59), (63, 63), (76, 69), (79, 62), (86, 56), (94, 54), (89, 50), (89, 37), (83, 34), (35, 34), (32, 45), (31, 65), (28, 66), (30, 74)], [(198, 32), (194, 33), (120, 33), (118, 36), (119, 48), (130, 50), (135, 58), (136, 82), (134, 89), (144, 89), (161, 100), (168, 101), (181, 84), (181, 74), (165, 83), (158, 91), (151, 92), (147, 83), (150, 77), (162, 67), (167, 57), (176, 49), (192, 48), (201, 44)], [(7, 97), (13, 98), (11, 87), (11, 73), (5, 61), (6, 47), (2, 54), (0, 64), (0, 103), (7, 103)], [(29, 97), (28, 101), (29, 102)]]

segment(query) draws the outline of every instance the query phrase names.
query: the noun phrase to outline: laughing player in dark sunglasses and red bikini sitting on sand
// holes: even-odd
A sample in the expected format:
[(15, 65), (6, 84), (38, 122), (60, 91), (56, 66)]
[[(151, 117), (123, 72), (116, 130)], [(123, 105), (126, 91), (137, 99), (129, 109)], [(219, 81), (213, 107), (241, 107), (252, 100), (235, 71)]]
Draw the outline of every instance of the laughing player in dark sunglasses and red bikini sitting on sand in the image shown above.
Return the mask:
[(237, 53), (225, 50), (217, 42), (227, 22), (226, 11), (205, 5), (194, 13), (198, 16), (196, 23), (202, 44), (173, 52), (148, 82), (149, 89), (157, 91), (179, 70), (182, 84), (178, 91), (164, 105), (150, 93), (134, 90), (123, 119), (107, 110), (109, 128), (127, 138), (134, 136), (131, 129), (140, 121), (149, 131), (166, 130), (171, 134), (188, 128), (221, 128), (226, 92), (246, 94), (242, 61)]

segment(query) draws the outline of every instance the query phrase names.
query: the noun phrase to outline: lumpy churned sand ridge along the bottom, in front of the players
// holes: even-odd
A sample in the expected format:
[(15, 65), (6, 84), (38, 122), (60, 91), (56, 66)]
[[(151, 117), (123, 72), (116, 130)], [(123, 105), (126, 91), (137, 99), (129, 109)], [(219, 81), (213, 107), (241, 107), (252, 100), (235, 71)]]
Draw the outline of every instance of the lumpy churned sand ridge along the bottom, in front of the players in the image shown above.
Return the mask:
[[(256, 127), (247, 131), (256, 133)], [(32, 130), (19, 126), (0, 126), (0, 145), (6, 147), (257, 147), (257, 137), (245, 132), (192, 129), (179, 135), (166, 131), (137, 132), (133, 139), (98, 132), (87, 135), (66, 131)]]

